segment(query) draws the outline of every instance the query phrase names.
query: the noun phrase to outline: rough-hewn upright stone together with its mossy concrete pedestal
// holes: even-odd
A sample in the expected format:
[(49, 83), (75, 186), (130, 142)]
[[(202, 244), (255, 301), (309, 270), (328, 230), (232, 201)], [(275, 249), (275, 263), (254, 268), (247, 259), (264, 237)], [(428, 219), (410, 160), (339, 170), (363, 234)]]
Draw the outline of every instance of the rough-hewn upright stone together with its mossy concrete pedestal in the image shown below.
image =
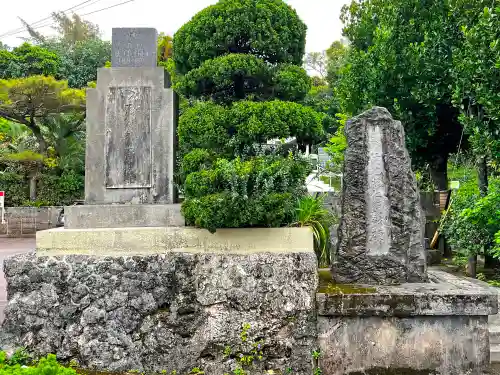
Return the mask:
[(488, 286), (427, 270), (423, 216), (401, 123), (375, 107), (346, 124), (342, 215), (316, 295), (326, 375), (482, 375)]

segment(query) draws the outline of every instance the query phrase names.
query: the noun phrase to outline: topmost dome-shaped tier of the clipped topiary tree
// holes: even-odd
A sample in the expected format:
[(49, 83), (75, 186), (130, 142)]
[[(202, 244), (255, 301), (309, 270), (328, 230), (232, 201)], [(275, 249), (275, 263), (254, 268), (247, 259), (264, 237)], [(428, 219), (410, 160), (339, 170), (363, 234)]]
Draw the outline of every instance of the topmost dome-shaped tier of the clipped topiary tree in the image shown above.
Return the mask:
[(181, 74), (228, 53), (301, 65), (306, 29), (282, 0), (221, 0), (177, 31), (173, 58)]

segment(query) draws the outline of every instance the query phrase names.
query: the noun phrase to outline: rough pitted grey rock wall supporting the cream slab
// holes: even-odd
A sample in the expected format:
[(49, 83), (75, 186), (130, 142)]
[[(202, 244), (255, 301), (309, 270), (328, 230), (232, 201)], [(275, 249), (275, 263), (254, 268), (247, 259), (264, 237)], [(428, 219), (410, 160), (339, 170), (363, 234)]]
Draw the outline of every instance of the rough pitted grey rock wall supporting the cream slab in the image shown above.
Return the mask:
[[(7, 260), (3, 337), (108, 371), (234, 368), (225, 358), (264, 339), (255, 372), (311, 373), (315, 347), (314, 252), (151, 256), (16, 256)], [(12, 342), (10, 342), (12, 344)]]

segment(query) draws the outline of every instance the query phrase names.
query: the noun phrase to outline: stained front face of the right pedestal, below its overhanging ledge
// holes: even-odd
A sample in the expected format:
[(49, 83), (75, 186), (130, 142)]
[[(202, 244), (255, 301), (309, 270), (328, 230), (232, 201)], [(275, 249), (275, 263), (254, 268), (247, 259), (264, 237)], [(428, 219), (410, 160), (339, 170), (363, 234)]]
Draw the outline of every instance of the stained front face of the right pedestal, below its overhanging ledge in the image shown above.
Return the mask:
[(320, 316), (318, 342), (327, 375), (483, 375), (489, 365), (487, 316)]

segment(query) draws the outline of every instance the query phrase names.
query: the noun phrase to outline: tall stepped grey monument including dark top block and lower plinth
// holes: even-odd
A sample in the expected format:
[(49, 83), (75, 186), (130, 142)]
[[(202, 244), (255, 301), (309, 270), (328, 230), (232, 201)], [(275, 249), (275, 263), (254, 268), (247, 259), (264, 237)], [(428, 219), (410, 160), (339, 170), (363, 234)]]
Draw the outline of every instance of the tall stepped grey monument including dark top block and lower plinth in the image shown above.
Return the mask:
[(112, 67), (87, 90), (85, 204), (66, 228), (164, 226), (180, 219), (174, 163), (177, 97), (156, 65), (157, 32), (118, 28)]

